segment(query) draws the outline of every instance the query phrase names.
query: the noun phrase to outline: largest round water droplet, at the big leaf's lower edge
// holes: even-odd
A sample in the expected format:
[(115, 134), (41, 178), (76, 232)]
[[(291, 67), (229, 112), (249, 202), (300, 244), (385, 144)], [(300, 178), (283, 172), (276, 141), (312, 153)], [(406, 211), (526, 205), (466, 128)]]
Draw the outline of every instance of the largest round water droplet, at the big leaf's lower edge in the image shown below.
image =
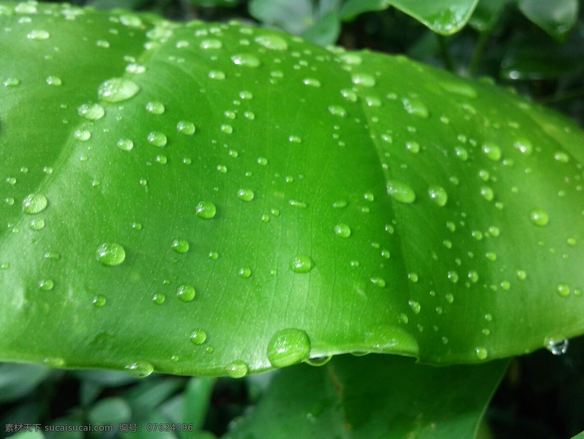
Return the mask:
[(276, 332), (267, 345), (267, 358), (273, 367), (287, 367), (310, 357), (310, 339), (300, 329)]

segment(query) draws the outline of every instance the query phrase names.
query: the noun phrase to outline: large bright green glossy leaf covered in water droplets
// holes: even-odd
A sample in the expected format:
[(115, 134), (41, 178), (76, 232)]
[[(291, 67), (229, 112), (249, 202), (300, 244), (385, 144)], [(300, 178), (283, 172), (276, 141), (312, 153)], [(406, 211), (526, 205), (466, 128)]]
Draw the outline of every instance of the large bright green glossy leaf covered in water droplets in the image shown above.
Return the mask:
[(1, 10), (2, 360), (240, 377), (583, 332), (557, 114), (235, 23)]

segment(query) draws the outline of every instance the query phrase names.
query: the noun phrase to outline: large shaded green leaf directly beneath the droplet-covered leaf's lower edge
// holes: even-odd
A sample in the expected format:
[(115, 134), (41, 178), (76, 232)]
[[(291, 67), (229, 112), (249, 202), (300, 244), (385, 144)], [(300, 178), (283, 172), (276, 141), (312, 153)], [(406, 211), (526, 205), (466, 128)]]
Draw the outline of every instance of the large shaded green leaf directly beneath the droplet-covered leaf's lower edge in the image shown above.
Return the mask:
[(506, 365), (435, 368), (384, 355), (297, 365), (277, 372), (225, 439), (472, 438)]

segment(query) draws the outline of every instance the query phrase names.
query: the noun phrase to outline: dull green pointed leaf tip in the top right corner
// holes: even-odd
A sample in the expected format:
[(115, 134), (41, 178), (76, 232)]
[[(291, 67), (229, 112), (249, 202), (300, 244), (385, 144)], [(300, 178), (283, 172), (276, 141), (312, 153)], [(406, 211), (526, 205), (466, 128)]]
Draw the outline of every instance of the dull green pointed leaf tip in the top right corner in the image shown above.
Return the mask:
[(578, 0), (519, 0), (520, 11), (558, 41), (563, 41), (578, 18)]

